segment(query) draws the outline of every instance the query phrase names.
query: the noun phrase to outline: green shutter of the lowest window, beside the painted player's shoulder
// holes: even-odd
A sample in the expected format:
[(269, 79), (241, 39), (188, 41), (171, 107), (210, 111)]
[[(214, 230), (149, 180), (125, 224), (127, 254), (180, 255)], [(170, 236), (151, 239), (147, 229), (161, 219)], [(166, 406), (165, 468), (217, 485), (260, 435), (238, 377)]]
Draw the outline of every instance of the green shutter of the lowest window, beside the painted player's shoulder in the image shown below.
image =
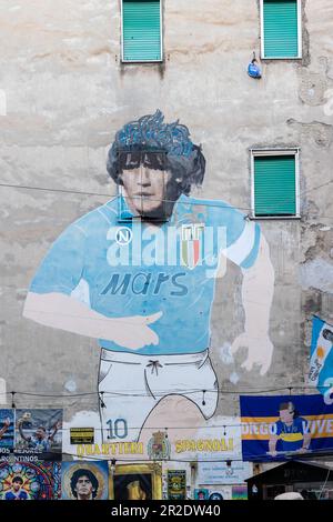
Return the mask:
[(254, 158), (254, 214), (295, 215), (295, 177), (294, 155)]

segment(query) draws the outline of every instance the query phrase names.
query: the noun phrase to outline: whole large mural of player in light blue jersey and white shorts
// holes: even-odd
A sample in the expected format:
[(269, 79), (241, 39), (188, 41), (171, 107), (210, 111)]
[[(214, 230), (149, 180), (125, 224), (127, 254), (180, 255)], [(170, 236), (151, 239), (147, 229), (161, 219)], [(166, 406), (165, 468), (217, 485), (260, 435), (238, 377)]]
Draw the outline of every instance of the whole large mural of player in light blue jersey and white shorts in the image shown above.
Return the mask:
[[(243, 272), (244, 332), (231, 352), (243, 367), (271, 365), (269, 338), (274, 272), (258, 223), (230, 204), (190, 197), (205, 159), (186, 127), (161, 111), (117, 132), (108, 172), (119, 195), (70, 224), (42, 261), (24, 317), (99, 340), (102, 426), (124, 420), (135, 441), (167, 395), (214, 414), (210, 315), (221, 259)], [(203, 400), (203, 390), (204, 400)]]

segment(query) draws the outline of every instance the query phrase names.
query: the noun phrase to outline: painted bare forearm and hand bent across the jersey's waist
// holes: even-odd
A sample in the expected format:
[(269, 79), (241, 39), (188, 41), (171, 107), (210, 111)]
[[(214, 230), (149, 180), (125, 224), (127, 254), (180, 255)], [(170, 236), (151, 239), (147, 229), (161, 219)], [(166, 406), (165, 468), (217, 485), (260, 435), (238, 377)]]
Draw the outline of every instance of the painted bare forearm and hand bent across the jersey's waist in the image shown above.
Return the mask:
[(108, 318), (63, 293), (29, 292), (23, 315), (47, 327), (107, 339), (121, 347), (138, 350), (147, 344), (159, 343), (159, 337), (149, 324), (158, 321), (162, 312), (147, 317)]

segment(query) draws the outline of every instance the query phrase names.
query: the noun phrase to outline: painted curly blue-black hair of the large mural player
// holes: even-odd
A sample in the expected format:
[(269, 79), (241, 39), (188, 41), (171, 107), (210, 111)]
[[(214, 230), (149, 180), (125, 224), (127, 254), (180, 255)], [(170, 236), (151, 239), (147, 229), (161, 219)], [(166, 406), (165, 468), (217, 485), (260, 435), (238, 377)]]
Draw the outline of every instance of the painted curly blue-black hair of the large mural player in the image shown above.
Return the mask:
[(178, 121), (164, 123), (160, 110), (127, 123), (109, 150), (107, 170), (117, 184), (122, 184), (123, 170), (140, 164), (170, 171), (178, 195), (189, 195), (192, 185), (200, 187), (205, 172), (201, 147), (191, 141), (188, 128)]

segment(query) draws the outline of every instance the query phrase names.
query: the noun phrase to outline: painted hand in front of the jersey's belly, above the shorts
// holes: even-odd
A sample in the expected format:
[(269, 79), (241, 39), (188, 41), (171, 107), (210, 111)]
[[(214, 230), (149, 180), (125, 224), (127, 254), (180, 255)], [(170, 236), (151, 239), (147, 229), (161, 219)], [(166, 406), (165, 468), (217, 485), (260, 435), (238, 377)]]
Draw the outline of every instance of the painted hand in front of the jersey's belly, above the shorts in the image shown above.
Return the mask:
[(162, 312), (153, 313), (152, 315), (133, 315), (129, 318), (110, 319), (111, 335), (105, 339), (111, 339), (120, 347), (129, 348), (131, 350), (139, 350), (149, 344), (159, 344), (159, 335), (149, 328), (149, 324), (157, 322), (162, 315)]

